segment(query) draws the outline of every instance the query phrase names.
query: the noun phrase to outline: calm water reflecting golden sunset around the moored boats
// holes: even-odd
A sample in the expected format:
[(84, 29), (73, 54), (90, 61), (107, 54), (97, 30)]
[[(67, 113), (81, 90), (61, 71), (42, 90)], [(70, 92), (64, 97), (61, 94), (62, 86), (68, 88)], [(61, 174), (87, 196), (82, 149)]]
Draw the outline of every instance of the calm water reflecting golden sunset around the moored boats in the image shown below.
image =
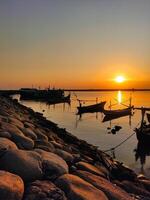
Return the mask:
[[(112, 120), (111, 122), (103, 123), (104, 115), (102, 113), (90, 113), (82, 115), (80, 119), (76, 115), (78, 101), (76, 97), (85, 101), (85, 105), (94, 104), (96, 97), (99, 101), (107, 101), (106, 108), (115, 104), (112, 109), (125, 108), (121, 102), (128, 105), (128, 99), (132, 96), (132, 104), (134, 106), (150, 107), (150, 92), (76, 92), (71, 93), (71, 105), (57, 104), (46, 105), (41, 102), (21, 101), (25, 106), (31, 107), (33, 110), (43, 112), (47, 119), (57, 123), (59, 127), (66, 128), (67, 131), (76, 135), (80, 139), (98, 146), (101, 150), (108, 150), (115, 147), (134, 133), (134, 128), (141, 120), (140, 111), (135, 110), (134, 115), (122, 117)], [(118, 102), (117, 102), (118, 101)], [(122, 129), (115, 135), (108, 133), (108, 127), (113, 128), (115, 125), (122, 126)], [(117, 160), (124, 162), (137, 173), (144, 173), (150, 176), (150, 157), (146, 157), (144, 167), (141, 167), (140, 159), (135, 160), (135, 149), (137, 148), (136, 135), (133, 135), (129, 140), (123, 143), (115, 150), (115, 157)], [(108, 152), (112, 155), (112, 152)]]

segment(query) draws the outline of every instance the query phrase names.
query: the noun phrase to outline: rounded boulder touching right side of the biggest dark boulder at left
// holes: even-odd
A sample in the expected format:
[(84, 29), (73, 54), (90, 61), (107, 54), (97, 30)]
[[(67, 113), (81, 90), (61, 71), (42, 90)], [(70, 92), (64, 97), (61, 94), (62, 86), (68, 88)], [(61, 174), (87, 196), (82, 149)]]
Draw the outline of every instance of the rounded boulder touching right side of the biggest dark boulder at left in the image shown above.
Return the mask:
[(55, 179), (68, 173), (67, 163), (58, 155), (41, 149), (36, 149), (42, 157), (43, 173), (50, 179)]

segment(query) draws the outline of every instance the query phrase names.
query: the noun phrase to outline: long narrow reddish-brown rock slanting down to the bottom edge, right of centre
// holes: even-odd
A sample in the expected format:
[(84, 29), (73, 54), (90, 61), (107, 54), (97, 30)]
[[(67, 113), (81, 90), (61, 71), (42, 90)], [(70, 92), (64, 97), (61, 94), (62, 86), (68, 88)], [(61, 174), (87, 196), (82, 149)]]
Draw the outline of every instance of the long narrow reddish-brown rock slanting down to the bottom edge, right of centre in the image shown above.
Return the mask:
[(133, 200), (127, 192), (100, 176), (86, 171), (77, 171), (75, 174), (102, 190), (110, 200)]

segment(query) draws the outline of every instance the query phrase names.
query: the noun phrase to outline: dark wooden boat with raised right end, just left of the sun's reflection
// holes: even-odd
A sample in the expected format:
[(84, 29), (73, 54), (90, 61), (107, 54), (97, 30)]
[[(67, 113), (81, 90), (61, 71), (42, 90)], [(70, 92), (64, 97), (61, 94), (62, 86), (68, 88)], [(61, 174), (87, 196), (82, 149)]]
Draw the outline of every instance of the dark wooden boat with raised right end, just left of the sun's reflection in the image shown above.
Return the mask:
[(102, 112), (104, 110), (104, 106), (106, 104), (106, 101), (89, 105), (89, 106), (78, 106), (78, 114), (82, 113), (93, 113), (93, 112)]

